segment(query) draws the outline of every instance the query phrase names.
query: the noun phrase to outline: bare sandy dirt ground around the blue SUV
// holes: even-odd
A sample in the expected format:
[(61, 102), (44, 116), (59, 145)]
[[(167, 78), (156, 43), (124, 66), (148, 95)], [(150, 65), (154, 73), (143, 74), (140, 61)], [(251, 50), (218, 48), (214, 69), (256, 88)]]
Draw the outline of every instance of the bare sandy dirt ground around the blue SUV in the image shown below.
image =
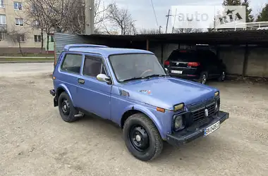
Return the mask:
[(0, 77), (0, 175), (267, 175), (268, 86), (211, 82), (229, 120), (145, 163), (128, 153), (121, 129), (86, 117), (63, 122), (48, 75)]

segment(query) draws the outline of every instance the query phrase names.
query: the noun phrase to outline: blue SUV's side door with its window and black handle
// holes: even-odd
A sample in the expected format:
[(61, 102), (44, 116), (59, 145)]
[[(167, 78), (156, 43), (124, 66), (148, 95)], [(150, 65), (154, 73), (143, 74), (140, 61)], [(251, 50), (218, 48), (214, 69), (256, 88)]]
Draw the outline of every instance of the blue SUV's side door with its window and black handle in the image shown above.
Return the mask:
[(102, 118), (110, 118), (111, 84), (100, 82), (97, 75), (106, 74), (104, 58), (98, 54), (85, 54), (83, 72), (78, 77), (79, 107)]

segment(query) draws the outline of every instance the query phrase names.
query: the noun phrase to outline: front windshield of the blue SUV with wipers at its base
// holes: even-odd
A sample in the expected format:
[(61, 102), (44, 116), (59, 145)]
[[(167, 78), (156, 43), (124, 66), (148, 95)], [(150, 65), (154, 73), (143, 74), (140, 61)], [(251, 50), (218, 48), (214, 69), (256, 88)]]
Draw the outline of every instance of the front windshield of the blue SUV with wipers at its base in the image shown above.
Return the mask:
[(118, 54), (109, 56), (109, 61), (119, 82), (166, 75), (153, 54)]

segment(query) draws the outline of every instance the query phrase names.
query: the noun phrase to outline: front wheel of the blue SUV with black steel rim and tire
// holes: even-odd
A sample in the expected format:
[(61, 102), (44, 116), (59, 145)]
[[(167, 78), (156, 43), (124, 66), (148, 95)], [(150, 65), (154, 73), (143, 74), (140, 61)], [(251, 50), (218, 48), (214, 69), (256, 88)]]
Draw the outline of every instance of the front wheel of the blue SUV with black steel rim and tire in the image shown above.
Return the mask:
[[(137, 134), (137, 131), (135, 130), (143, 133)], [(132, 134), (136, 134), (135, 137), (133, 137)], [(143, 134), (142, 137), (140, 137), (140, 146), (142, 146), (142, 144), (146, 144), (144, 145), (144, 149), (140, 149), (137, 145), (135, 145), (138, 143), (137, 136), (139, 134)], [(163, 140), (157, 130), (157, 127), (150, 118), (147, 118), (147, 116), (142, 113), (130, 115), (130, 117), (126, 120), (125, 125), (123, 126), (123, 138), (128, 151), (130, 151), (130, 153), (140, 161), (151, 161), (154, 158), (157, 158), (163, 149)], [(149, 145), (147, 145), (147, 143), (149, 143)]]

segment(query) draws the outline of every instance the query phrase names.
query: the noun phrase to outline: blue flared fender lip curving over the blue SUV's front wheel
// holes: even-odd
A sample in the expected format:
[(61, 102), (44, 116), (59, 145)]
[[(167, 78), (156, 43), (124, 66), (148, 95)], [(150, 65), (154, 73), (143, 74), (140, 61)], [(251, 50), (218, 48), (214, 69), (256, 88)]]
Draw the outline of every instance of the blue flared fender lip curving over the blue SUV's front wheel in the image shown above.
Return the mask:
[[(154, 115), (154, 113), (152, 113), (148, 108), (146, 108), (145, 106), (134, 104), (134, 105), (127, 106), (124, 109), (123, 113), (126, 113), (126, 111), (130, 111), (130, 110), (137, 110), (147, 115), (152, 120), (152, 122), (154, 122), (154, 125), (157, 126), (157, 130), (159, 131), (159, 134), (161, 135), (162, 139), (166, 138), (161, 120), (157, 118)], [(123, 117), (123, 114), (121, 114), (121, 117)]]

